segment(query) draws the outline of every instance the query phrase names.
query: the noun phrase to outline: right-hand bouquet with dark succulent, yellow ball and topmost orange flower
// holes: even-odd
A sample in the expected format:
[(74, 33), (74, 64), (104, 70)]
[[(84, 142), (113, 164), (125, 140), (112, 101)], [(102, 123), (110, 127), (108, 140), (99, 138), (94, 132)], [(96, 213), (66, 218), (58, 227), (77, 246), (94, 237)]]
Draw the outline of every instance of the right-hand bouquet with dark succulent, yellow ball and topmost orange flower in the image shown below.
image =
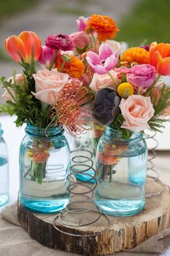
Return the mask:
[[(125, 43), (114, 40), (119, 29), (111, 17), (93, 14), (79, 17), (77, 23), (79, 32), (71, 37), (94, 93), (94, 122), (109, 125), (125, 139), (145, 129), (161, 132), (170, 115), (170, 88), (161, 80), (170, 75), (170, 44), (153, 42), (125, 49)], [(125, 145), (106, 145), (97, 158), (112, 169), (125, 150)]]

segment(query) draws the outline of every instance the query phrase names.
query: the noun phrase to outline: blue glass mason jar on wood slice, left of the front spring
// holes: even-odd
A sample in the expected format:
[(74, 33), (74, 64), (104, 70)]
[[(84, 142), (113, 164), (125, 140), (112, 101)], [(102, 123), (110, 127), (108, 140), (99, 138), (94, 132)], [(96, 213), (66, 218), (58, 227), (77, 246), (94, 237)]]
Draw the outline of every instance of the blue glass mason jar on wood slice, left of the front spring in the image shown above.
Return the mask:
[(57, 213), (70, 200), (70, 148), (63, 127), (27, 124), (19, 149), (19, 202), (37, 213)]

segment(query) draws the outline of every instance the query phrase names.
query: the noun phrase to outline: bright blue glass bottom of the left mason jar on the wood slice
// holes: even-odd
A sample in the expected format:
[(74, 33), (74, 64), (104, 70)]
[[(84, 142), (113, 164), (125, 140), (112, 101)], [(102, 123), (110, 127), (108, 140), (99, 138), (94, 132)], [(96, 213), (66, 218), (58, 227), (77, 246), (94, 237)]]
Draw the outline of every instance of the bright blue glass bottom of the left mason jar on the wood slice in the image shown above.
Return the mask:
[(22, 206), (34, 213), (58, 213), (66, 208), (69, 199), (53, 199), (53, 200), (36, 200), (32, 198), (22, 197), (20, 195), (19, 202)]

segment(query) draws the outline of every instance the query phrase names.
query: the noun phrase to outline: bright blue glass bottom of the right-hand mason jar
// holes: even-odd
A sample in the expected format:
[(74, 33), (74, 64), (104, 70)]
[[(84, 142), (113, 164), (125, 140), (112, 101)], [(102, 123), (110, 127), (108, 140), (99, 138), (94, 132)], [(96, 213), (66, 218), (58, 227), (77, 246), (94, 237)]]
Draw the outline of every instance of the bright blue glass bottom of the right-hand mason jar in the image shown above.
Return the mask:
[(138, 200), (106, 200), (104, 198), (95, 197), (95, 204), (111, 216), (133, 216), (140, 213), (145, 205), (145, 199)]

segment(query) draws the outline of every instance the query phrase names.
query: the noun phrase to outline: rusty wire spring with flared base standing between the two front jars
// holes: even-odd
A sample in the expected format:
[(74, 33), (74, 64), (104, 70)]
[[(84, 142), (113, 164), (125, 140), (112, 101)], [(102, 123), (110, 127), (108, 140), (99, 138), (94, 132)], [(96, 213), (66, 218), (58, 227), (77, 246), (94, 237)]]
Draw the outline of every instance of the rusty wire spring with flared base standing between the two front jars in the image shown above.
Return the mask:
[[(69, 182), (68, 192), (71, 194), (70, 202), (66, 205), (66, 210), (63, 210), (55, 217), (53, 220), (53, 226), (63, 234), (68, 234), (70, 236), (97, 236), (109, 229), (110, 220), (106, 214), (102, 213), (101, 210), (94, 205), (94, 189), (97, 187), (97, 179), (96, 170), (93, 167), (93, 154), (89, 150), (80, 148), (71, 151), (71, 155), (71, 172), (67, 176), (67, 180)], [(74, 179), (71, 179), (73, 177)], [(76, 178), (79, 179), (79, 181), (77, 181)], [(90, 220), (84, 222), (84, 213), (86, 215), (88, 213), (94, 213), (93, 216), (96, 217), (93, 219), (91, 215)], [(79, 223), (77, 223), (76, 216), (79, 214), (82, 215), (82, 218), (81, 222), (78, 221)], [(68, 220), (66, 221), (67, 218)], [(102, 231), (91, 231), (89, 234), (77, 234), (76, 231), (76, 234), (73, 234), (59, 228), (60, 223), (70, 229), (90, 226), (91, 224), (99, 221), (100, 218), (104, 218), (107, 223)]]

